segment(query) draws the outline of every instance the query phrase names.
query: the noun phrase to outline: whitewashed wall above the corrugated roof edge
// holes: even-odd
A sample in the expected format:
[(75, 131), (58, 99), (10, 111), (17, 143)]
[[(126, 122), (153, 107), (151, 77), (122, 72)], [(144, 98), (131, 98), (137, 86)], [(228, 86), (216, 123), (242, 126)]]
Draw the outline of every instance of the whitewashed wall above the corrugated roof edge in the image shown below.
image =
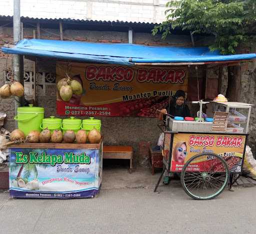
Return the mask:
[[(167, 0), (20, 0), (21, 16), (160, 23)], [(13, 15), (13, 0), (0, 0), (0, 15)]]

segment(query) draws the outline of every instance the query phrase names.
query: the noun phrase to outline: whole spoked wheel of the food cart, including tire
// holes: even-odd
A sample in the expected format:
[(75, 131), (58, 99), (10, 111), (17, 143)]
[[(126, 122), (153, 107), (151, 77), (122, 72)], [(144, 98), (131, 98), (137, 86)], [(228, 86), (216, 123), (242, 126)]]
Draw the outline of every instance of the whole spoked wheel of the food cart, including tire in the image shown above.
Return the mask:
[[(193, 165), (198, 164), (199, 167)], [(185, 193), (196, 200), (217, 197), (225, 188), (229, 176), (225, 160), (213, 153), (201, 153), (184, 165), (180, 181)]]

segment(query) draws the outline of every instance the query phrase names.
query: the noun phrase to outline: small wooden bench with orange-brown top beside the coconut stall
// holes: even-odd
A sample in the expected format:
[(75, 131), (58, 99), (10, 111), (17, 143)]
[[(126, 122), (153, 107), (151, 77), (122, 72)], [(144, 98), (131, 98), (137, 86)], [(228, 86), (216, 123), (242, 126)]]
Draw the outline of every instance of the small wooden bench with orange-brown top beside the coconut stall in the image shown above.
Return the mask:
[(132, 170), (132, 155), (131, 146), (103, 146), (103, 159), (129, 159), (129, 173)]

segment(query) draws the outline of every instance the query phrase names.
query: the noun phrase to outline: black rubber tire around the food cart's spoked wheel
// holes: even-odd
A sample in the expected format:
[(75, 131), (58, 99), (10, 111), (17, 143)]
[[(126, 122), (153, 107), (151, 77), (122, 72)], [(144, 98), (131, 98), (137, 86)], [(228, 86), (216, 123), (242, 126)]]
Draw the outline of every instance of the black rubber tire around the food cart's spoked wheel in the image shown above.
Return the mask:
[[(185, 182), (184, 182), (184, 174), (185, 174), (185, 172), (186, 172), (186, 168), (188, 167), (188, 165), (189, 165), (193, 160), (195, 160), (196, 158), (199, 158), (199, 157), (201, 157), (201, 156), (204, 156), (204, 155), (205, 155), (205, 156), (214, 156), (214, 157), (216, 157), (216, 158), (221, 162), (222, 166), (223, 166), (224, 169), (225, 169), (225, 181), (224, 181), (223, 185), (221, 186), (221, 188), (220, 188), (217, 192), (213, 193), (212, 195), (207, 196), (207, 197), (198, 197), (198, 196), (192, 194), (192, 193), (186, 188), (186, 185), (185, 185)], [(184, 167), (183, 167), (183, 169), (182, 169), (182, 171), (181, 171), (180, 182), (181, 182), (181, 185), (182, 185), (182, 187), (183, 187), (185, 193), (186, 193), (189, 197), (191, 197), (192, 199), (195, 199), (195, 200), (209, 200), (209, 199), (213, 199), (213, 198), (217, 197), (219, 194), (221, 194), (221, 193), (223, 192), (223, 190), (224, 190), (225, 187), (226, 187), (228, 178), (229, 178), (228, 166), (227, 166), (226, 161), (225, 161), (222, 157), (220, 157), (219, 155), (214, 154), (214, 153), (200, 153), (200, 154), (197, 154), (197, 155), (191, 157), (191, 158), (185, 163), (185, 165), (184, 165)]]

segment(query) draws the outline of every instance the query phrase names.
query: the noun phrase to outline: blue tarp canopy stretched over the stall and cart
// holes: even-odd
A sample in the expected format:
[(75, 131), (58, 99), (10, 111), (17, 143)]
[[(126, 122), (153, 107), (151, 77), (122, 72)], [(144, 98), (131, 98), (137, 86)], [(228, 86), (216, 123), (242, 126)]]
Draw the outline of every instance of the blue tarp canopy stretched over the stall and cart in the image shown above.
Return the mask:
[(256, 58), (255, 53), (220, 55), (207, 47), (145, 46), (63, 40), (23, 39), (14, 47), (2, 47), (5, 53), (52, 57), (90, 63), (134, 65), (134, 63), (207, 63)]

